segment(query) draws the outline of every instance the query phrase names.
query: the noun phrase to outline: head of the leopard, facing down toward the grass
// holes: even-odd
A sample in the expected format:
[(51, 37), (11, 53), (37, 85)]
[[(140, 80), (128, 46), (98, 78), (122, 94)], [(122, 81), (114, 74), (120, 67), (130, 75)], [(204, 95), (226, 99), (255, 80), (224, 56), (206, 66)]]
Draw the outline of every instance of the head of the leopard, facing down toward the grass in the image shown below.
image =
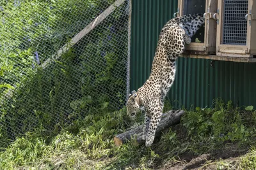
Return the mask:
[(127, 108), (127, 115), (130, 118), (132, 118), (132, 120), (134, 120), (136, 117), (136, 114), (140, 112), (140, 99), (137, 95), (137, 92), (135, 92), (135, 90), (133, 90), (132, 94), (130, 94), (126, 104), (126, 108)]

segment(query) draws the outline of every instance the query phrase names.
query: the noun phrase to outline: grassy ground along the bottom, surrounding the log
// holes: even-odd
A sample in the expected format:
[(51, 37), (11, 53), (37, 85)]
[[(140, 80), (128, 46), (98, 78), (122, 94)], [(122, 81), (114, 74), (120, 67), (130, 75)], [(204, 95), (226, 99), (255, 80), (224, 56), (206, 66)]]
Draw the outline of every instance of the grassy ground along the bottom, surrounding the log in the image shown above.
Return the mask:
[[(115, 146), (113, 136), (133, 123), (125, 112), (87, 115), (52, 138), (42, 136), (42, 129), (29, 132), (3, 148), (0, 169), (255, 169), (251, 106), (234, 108), (218, 99), (212, 108), (186, 111), (150, 148), (132, 141)], [(200, 159), (204, 155), (207, 160)]]

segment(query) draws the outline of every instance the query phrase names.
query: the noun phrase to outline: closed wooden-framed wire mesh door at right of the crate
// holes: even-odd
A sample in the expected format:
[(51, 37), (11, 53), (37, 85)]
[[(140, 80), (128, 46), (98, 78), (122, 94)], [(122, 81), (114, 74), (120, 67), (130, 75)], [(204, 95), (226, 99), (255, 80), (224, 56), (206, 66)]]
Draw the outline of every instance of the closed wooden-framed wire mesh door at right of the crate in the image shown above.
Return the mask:
[(217, 55), (252, 57), (253, 8), (253, 0), (218, 1)]

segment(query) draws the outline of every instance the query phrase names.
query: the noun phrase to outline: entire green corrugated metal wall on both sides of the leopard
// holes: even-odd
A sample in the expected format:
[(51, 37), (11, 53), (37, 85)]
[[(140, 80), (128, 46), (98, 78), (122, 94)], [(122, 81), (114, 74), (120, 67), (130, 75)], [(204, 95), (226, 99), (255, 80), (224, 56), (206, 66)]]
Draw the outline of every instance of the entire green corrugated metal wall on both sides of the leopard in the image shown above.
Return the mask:
[[(131, 90), (147, 80), (163, 25), (173, 17), (177, 1), (133, 0), (131, 23)], [(168, 98), (177, 107), (211, 106), (212, 99), (221, 97), (239, 106), (256, 107), (256, 63), (211, 60), (177, 60), (175, 83)]]

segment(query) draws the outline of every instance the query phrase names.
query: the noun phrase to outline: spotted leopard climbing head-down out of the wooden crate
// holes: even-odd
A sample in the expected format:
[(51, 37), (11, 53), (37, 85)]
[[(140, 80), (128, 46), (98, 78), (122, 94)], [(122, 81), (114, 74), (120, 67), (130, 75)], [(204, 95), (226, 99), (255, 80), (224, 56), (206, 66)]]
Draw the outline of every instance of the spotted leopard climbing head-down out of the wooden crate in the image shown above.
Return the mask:
[(149, 78), (137, 92), (133, 90), (129, 95), (127, 115), (134, 120), (138, 112), (145, 112), (142, 138), (146, 146), (154, 142), (163, 114), (164, 98), (175, 80), (175, 61), (204, 23), (203, 14), (183, 15), (169, 20), (159, 34)]

